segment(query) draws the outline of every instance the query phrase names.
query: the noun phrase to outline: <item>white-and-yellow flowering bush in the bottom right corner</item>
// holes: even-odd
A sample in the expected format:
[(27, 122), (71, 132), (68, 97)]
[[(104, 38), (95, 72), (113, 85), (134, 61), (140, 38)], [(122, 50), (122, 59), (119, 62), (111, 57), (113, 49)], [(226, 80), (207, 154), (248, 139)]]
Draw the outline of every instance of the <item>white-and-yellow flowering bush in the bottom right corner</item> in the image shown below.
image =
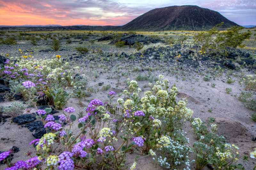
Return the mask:
[[(217, 125), (204, 123), (200, 118), (191, 121), (191, 125), (195, 131), (197, 139), (194, 143), (194, 156), (196, 161), (196, 170), (202, 170), (207, 164), (213, 166), (214, 169), (244, 169), (237, 161), (239, 148), (234, 144), (226, 143), (226, 139), (218, 136)], [(210, 129), (210, 130), (209, 130)]]

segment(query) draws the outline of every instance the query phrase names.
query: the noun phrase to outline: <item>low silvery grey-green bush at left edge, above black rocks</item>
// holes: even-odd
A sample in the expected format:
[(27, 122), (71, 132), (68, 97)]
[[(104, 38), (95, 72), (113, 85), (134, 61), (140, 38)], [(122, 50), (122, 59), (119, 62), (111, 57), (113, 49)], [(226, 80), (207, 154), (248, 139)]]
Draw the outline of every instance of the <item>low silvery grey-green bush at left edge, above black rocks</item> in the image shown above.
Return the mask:
[(27, 108), (22, 102), (14, 102), (11, 106), (2, 107), (3, 115), (17, 117), (22, 115), (24, 110)]

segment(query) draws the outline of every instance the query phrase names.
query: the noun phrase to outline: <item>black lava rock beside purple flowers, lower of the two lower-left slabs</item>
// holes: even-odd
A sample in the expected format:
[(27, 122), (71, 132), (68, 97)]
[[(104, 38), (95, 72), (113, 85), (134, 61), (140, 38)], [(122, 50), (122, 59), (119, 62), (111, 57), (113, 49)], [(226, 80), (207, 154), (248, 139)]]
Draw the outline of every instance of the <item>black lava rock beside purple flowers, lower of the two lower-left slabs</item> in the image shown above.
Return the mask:
[(28, 123), (26, 125), (23, 125), (22, 127), (26, 127), (29, 129), (30, 132), (35, 131), (33, 137), (40, 139), (44, 134), (46, 134), (46, 130), (44, 129), (44, 124), (42, 121), (35, 121)]

